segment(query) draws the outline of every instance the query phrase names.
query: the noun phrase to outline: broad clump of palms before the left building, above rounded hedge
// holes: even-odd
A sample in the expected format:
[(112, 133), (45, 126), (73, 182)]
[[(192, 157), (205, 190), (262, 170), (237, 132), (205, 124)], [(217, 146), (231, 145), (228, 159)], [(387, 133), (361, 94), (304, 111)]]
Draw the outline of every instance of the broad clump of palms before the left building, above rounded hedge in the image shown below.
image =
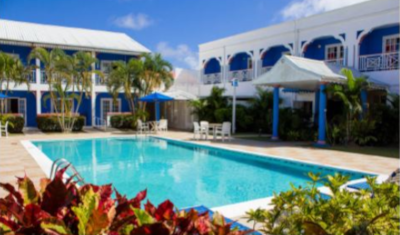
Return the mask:
[(53, 111), (59, 114), (56, 117), (61, 130), (71, 132), (83, 97), (91, 94), (92, 74), (102, 76), (93, 69), (96, 59), (88, 52), (69, 56), (61, 49), (48, 51), (43, 48), (33, 49), (29, 58), (43, 63), (49, 86), (44, 101), (50, 100)]

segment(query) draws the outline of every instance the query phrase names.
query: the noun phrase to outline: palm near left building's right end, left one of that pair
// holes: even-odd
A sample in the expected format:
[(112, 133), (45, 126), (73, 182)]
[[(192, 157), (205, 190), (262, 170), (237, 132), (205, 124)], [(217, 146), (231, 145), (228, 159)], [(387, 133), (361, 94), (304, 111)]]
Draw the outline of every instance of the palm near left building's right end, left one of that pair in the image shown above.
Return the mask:
[(132, 114), (135, 112), (135, 99), (141, 90), (140, 72), (142, 63), (131, 59), (128, 63), (117, 61), (112, 64), (113, 69), (106, 80), (109, 93), (116, 101), (119, 93), (124, 92)]

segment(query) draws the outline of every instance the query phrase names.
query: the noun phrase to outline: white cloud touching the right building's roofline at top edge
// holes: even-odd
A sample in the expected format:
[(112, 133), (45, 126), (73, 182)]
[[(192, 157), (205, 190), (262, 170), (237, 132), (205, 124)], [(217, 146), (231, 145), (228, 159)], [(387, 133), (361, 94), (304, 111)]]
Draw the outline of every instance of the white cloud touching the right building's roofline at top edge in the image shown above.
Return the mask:
[(295, 0), (281, 11), (281, 16), (285, 20), (299, 19), (366, 1), (369, 0)]

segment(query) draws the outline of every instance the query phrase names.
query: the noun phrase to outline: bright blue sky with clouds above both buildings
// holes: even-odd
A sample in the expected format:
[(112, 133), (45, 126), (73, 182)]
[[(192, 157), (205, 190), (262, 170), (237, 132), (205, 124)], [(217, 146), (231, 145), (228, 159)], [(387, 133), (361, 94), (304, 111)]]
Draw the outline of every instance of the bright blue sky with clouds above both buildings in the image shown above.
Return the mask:
[(366, 0), (2, 0), (0, 18), (127, 33), (177, 67), (198, 45)]

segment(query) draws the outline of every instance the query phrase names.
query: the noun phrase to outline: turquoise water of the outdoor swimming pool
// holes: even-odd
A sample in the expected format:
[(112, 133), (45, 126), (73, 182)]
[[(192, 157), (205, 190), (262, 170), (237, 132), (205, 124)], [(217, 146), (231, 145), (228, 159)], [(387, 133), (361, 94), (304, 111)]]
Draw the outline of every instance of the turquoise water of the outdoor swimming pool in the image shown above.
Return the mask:
[[(305, 185), (308, 172), (367, 174), (156, 137), (32, 141), (50, 160), (70, 161), (86, 182), (133, 197), (147, 189), (155, 204), (216, 207)], [(334, 157), (334, 156), (332, 156)]]

